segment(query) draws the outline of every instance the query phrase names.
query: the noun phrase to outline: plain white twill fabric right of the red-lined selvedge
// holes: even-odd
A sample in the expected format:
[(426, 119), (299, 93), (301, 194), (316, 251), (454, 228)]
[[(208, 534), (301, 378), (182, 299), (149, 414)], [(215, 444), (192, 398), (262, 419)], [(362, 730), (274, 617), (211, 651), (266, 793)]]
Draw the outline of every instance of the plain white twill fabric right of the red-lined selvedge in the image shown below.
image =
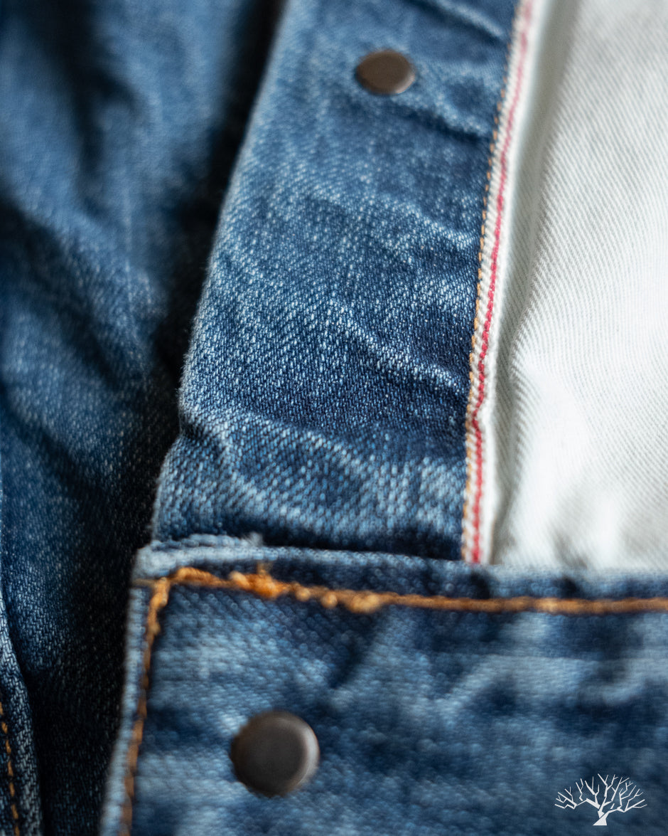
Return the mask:
[(489, 334), (479, 560), (668, 571), (668, 3), (551, 3), (541, 37)]

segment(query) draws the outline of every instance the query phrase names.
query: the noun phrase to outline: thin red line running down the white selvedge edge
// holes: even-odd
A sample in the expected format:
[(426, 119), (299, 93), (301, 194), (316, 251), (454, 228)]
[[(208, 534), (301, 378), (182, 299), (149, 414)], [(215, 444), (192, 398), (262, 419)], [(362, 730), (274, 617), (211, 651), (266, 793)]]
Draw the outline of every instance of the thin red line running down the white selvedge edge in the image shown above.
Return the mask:
[(510, 104), (508, 114), (508, 125), (506, 128), (506, 135), (504, 139), (504, 147), (501, 150), (501, 175), (498, 183), (498, 195), (496, 199), (497, 217), (494, 226), (494, 246), (492, 249), (492, 265), (489, 277), (489, 293), (487, 298), (487, 311), (485, 313), (485, 324), (483, 328), (483, 337), (480, 343), (480, 357), (478, 359), (478, 399), (476, 400), (473, 414), (471, 416), (471, 426), (475, 433), (475, 459), (478, 472), (476, 473), (475, 494), (473, 497), (473, 551), (471, 554), (471, 563), (480, 563), (480, 502), (483, 496), (483, 434), (478, 423), (478, 412), (480, 405), (483, 403), (485, 390), (485, 356), (487, 354), (489, 344), (489, 329), (492, 324), (493, 302), (494, 302), (494, 287), (496, 284), (497, 267), (498, 267), (498, 243), (501, 237), (501, 222), (504, 212), (504, 190), (507, 178), (507, 157), (510, 140), (513, 132), (513, 122), (515, 116), (515, 109), (519, 101), (519, 93), (522, 88), (522, 80), (524, 78), (524, 59), (527, 53), (527, 27), (529, 19), (531, 18), (531, 7), (533, 0), (527, 3), (524, 9), (524, 20), (522, 26), (522, 33), (519, 36), (519, 65), (517, 70), (517, 84), (513, 95), (513, 101)]

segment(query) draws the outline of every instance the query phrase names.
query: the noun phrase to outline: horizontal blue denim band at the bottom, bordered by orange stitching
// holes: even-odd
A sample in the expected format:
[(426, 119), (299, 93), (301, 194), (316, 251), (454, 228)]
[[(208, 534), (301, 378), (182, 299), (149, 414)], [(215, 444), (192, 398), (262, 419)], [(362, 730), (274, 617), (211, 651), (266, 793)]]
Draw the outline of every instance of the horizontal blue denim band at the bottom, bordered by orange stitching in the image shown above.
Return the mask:
[[(631, 775), (646, 802), (611, 813), (611, 827), (665, 833), (668, 611), (582, 611), (601, 599), (665, 602), (665, 577), (532, 577), (434, 558), (205, 538), (156, 543), (140, 555), (104, 836), (125, 832), (125, 755), (147, 670), (146, 579), (180, 566), (227, 579), (256, 573), (258, 563), (306, 589), (413, 599), (356, 611), (296, 592), (267, 598), (206, 581), (172, 586), (148, 666), (134, 836), (576, 836), (597, 821), (596, 810), (559, 808), (557, 793), (599, 772)], [(575, 601), (580, 611), (419, 605), (434, 595), (502, 608), (518, 596)], [(315, 777), (284, 798), (249, 791), (230, 761), (236, 732), (270, 709), (301, 716), (321, 748)]]

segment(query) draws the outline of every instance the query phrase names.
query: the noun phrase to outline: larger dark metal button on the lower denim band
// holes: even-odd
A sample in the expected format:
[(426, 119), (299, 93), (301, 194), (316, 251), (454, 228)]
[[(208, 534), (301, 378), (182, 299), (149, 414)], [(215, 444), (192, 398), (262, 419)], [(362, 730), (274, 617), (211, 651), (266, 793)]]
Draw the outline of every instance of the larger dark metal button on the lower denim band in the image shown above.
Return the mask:
[(251, 717), (232, 741), (236, 777), (265, 795), (285, 795), (301, 787), (318, 766), (320, 749), (313, 729), (288, 711)]

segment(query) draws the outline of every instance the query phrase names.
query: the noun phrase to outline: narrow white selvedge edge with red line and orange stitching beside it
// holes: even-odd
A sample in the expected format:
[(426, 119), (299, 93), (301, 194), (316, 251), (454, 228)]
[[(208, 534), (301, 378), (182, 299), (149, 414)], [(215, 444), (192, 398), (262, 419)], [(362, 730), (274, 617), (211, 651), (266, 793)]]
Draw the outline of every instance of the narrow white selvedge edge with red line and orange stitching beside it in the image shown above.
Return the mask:
[[(487, 356), (489, 344), (489, 331), (492, 324), (494, 288), (497, 281), (498, 271), (498, 247), (501, 236), (501, 223), (504, 214), (504, 192), (506, 179), (508, 174), (508, 151), (510, 140), (513, 136), (514, 115), (519, 102), (519, 94), (522, 89), (522, 80), (524, 76), (524, 61), (527, 53), (527, 33), (526, 28), (529, 24), (531, 16), (531, 7), (533, 0), (527, 0), (526, 3), (519, 3), (516, 10), (515, 21), (513, 26), (513, 35), (509, 41), (508, 54), (506, 56), (506, 64), (504, 68), (503, 86), (499, 94), (497, 103), (498, 113), (494, 115), (494, 130), (493, 142), (489, 145), (490, 155), (488, 158), (487, 182), (485, 183), (485, 194), (483, 195), (483, 224), (481, 227), (480, 249), (478, 252), (478, 264), (482, 265), (483, 250), (486, 242), (485, 238), (485, 221), (487, 219), (487, 196), (489, 191), (489, 182), (491, 180), (491, 173), (493, 167), (493, 155), (496, 150), (496, 143), (498, 140), (498, 114), (503, 109), (503, 101), (506, 94), (506, 84), (508, 77), (506, 75), (509, 66), (509, 57), (514, 43), (518, 39), (517, 29), (519, 22), (524, 22), (524, 28), (519, 32), (519, 64), (516, 75), (516, 83), (513, 94), (513, 101), (510, 104), (508, 121), (505, 125), (504, 145), (498, 160), (498, 167), (500, 169), (500, 177), (498, 184), (498, 191), (496, 196), (496, 222), (494, 224), (493, 232), (493, 248), (490, 257), (489, 269), (489, 287), (487, 291), (487, 305), (485, 311), (485, 320), (483, 324), (483, 333), (480, 336), (480, 349), (478, 362), (476, 364), (476, 337), (478, 334), (479, 319), (478, 314), (480, 310), (480, 303), (483, 297), (483, 270), (482, 266), (478, 266), (478, 297), (476, 298), (475, 318), (473, 320), (473, 335), (471, 337), (472, 351), (469, 354), (469, 364), (471, 371), (469, 372), (469, 380), (471, 381), (471, 389), (469, 390), (467, 417), (465, 421), (465, 431), (467, 438), (467, 482), (464, 489), (464, 507), (463, 507), (463, 538), (462, 538), (462, 557), (470, 563), (480, 563), (481, 548), (480, 548), (480, 505), (483, 497), (483, 430), (478, 421), (478, 413), (483, 404), (485, 394), (485, 358)], [(520, 11), (521, 10), (521, 11)], [(477, 372), (477, 375), (476, 375)], [(474, 487), (473, 487), (474, 482)], [(467, 537), (467, 523), (473, 527), (473, 537)], [(472, 542), (470, 542), (472, 540)]]

